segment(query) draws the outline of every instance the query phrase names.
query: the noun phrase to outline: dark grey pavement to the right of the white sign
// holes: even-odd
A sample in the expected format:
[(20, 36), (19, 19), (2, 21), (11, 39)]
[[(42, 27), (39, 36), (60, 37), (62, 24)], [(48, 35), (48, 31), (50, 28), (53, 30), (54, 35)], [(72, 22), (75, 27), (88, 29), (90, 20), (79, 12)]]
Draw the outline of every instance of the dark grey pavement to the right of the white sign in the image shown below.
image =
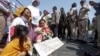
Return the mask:
[(79, 40), (70, 41), (67, 39), (62, 40), (62, 42), (64, 43), (64, 45), (49, 56), (84, 56), (85, 52), (90, 53), (92, 56), (95, 56), (95, 53), (97, 51), (97, 48), (94, 48), (92, 43), (83, 43)]

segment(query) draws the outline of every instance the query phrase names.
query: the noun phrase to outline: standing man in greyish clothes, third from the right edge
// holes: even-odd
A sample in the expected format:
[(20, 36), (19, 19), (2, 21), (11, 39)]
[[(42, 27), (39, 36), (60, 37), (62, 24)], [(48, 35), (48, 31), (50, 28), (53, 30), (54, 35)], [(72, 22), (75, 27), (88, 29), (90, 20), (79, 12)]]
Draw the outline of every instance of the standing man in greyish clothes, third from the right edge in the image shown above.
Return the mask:
[(77, 5), (76, 3), (72, 4), (70, 9), (70, 28), (71, 28), (71, 38), (75, 39), (76, 37), (76, 20), (77, 20)]

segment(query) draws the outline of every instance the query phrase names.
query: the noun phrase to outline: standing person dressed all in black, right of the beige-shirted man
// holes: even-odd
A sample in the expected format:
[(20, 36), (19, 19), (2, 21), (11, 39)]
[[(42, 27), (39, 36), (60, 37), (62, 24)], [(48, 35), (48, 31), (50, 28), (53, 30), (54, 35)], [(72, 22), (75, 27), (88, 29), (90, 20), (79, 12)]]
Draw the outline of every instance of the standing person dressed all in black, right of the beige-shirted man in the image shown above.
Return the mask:
[(63, 40), (65, 39), (65, 23), (66, 23), (66, 14), (64, 8), (60, 9), (60, 19), (59, 19), (59, 29), (58, 29), (58, 34), (59, 37), (62, 38)]

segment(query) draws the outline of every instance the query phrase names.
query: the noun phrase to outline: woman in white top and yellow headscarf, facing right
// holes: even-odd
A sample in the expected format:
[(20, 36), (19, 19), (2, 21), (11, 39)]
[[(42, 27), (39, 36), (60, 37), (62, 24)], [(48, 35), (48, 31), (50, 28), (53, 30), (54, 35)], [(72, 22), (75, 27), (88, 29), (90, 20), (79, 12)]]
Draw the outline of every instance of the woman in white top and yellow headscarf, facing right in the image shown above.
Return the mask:
[(13, 35), (13, 26), (16, 26), (16, 25), (24, 25), (24, 26), (27, 26), (28, 27), (28, 20), (29, 18), (31, 17), (31, 12), (28, 8), (22, 8), (20, 11), (20, 17), (18, 16), (17, 18), (15, 18), (12, 23), (11, 23), (11, 26), (9, 27), (9, 38), (8, 38), (8, 42), (10, 42), (10, 38), (12, 37)]

